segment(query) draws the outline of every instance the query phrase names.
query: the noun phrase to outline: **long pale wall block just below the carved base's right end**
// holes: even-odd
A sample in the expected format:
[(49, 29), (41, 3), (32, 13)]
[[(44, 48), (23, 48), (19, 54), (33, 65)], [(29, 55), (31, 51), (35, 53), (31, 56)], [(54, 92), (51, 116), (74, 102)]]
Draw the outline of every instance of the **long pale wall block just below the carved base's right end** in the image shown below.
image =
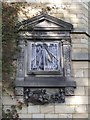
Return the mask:
[(74, 113), (74, 106), (55, 105), (55, 113)]

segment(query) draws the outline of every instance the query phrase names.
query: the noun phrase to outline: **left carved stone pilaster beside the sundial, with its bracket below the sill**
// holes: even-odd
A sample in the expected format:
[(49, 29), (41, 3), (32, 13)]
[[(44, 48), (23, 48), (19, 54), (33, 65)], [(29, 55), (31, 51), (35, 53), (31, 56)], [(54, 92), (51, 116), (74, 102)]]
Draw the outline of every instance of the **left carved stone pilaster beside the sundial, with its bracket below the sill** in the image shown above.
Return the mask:
[[(20, 40), (18, 45), (18, 59), (17, 59), (17, 73), (16, 81), (24, 81), (24, 52), (25, 52), (25, 41)], [(17, 96), (23, 96), (23, 87), (16, 87), (15, 92)]]

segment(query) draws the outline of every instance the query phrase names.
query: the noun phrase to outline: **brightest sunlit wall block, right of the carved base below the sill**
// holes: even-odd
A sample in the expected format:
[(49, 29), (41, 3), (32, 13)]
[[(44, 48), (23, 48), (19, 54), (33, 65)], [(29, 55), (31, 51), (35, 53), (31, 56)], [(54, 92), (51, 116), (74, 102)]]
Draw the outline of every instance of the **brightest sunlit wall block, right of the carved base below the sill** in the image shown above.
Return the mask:
[(66, 104), (69, 105), (88, 104), (88, 96), (66, 97)]

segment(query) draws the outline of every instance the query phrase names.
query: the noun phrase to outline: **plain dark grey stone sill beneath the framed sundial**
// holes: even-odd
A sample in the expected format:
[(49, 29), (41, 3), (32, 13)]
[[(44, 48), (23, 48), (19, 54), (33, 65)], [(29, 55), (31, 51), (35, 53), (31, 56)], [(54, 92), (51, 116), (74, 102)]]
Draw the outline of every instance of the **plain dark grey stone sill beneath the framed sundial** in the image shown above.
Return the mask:
[(26, 77), (24, 81), (17, 81), (17, 87), (58, 88), (76, 87), (76, 82), (69, 77)]

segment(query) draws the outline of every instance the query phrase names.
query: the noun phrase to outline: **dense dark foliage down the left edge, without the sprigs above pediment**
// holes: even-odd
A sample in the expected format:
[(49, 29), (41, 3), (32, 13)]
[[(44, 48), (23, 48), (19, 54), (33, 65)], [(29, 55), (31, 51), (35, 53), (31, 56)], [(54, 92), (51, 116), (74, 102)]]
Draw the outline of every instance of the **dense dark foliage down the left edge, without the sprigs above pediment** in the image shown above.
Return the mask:
[(16, 42), (16, 23), (18, 22), (18, 11), (21, 3), (2, 3), (2, 79), (3, 85), (13, 84), (12, 75), (15, 68), (12, 64), (15, 56)]

